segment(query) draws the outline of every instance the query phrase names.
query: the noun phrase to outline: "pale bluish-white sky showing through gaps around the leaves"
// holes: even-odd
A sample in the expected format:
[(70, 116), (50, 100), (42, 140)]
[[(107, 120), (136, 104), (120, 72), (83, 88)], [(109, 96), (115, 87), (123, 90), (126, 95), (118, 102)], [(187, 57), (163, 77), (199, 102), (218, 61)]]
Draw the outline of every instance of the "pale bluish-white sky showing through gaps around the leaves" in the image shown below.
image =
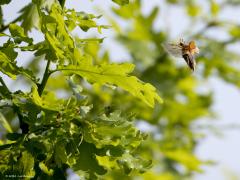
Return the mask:
[[(25, 4), (30, 2), (29, 0), (13, 0), (13, 2), (7, 6), (3, 6), (4, 15), (6, 14), (7, 22), (16, 17), (16, 12), (21, 9)], [(144, 0), (144, 13), (148, 13), (152, 7), (155, 5), (160, 7), (160, 18), (156, 22), (156, 28), (166, 28), (170, 31), (171, 38), (176, 39), (179, 36), (181, 37), (181, 32), (188, 27), (188, 21), (184, 20), (184, 12), (182, 9), (177, 7), (170, 7), (159, 0)], [(66, 0), (66, 7), (75, 8), (77, 11), (86, 11), (88, 13), (94, 13), (96, 7), (101, 7), (109, 12), (109, 6), (116, 6), (111, 3), (111, 1), (106, 0)], [(95, 8), (93, 8), (95, 7)], [(240, 21), (240, 9), (239, 11), (231, 11), (227, 9), (221, 18), (231, 19), (234, 21)], [(104, 19), (99, 23), (106, 24), (107, 21)], [(122, 22), (123, 23), (123, 22)], [(239, 22), (240, 24), (240, 22)], [(124, 23), (122, 24), (124, 26)], [(39, 34), (33, 32), (31, 34), (38, 39), (41, 39)], [(216, 35), (216, 34), (215, 34)], [(103, 32), (103, 37), (108, 37), (103, 42), (103, 47), (110, 49), (111, 58), (115, 61), (123, 61), (124, 59), (129, 59), (129, 55), (124, 50), (124, 48), (111, 40), (113, 33), (111, 30)], [(221, 34), (217, 35), (219, 38), (222, 38)], [(1, 43), (1, 41), (0, 41)], [(114, 56), (118, 54), (118, 56)], [(26, 59), (26, 55), (23, 54), (21, 57)], [(20, 57), (20, 58), (21, 58)], [(28, 58), (30, 59), (30, 57)], [(22, 62), (23, 64), (25, 62)], [(7, 82), (8, 84), (10, 82)], [(204, 119), (202, 122), (209, 124), (209, 122), (217, 127), (221, 127), (227, 124), (240, 124), (240, 91), (232, 85), (226, 84), (219, 79), (211, 78), (206, 86), (213, 89), (214, 91), (214, 106), (213, 110), (218, 112), (218, 117), (215, 121), (210, 122), (209, 119)], [(15, 86), (16, 87), (16, 86)], [(12, 85), (14, 89), (14, 86)], [(240, 131), (239, 129), (228, 129), (222, 132), (223, 136), (218, 137), (216, 134), (207, 131), (207, 136), (196, 149), (196, 154), (198, 157), (205, 160), (214, 160), (217, 162), (214, 166), (204, 166), (203, 169), (205, 173), (196, 174), (195, 180), (209, 180), (209, 179), (218, 179), (225, 180), (229, 179), (230, 174), (238, 175), (240, 178)], [(77, 179), (72, 177), (71, 179)]]

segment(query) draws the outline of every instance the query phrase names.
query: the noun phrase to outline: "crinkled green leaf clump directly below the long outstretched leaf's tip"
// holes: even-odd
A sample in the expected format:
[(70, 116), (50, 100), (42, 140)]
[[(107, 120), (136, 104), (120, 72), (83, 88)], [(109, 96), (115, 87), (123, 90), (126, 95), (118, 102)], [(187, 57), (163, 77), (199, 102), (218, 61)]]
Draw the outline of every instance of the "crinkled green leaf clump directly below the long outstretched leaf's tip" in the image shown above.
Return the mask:
[(146, 138), (134, 127), (131, 118), (122, 116), (119, 111), (112, 112), (109, 116), (104, 114), (85, 123), (85, 141), (94, 143), (97, 148), (111, 145), (132, 149), (138, 147)]

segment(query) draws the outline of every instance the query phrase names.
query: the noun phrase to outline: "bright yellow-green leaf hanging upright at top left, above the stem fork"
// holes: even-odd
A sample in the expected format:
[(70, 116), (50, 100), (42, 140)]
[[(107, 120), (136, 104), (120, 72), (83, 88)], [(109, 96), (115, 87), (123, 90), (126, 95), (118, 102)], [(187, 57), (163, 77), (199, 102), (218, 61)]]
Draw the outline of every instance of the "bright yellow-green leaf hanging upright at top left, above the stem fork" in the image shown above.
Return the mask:
[(59, 63), (73, 60), (74, 41), (66, 28), (61, 6), (54, 3), (49, 15), (42, 11), (40, 17), (45, 41), (40, 44), (38, 54), (46, 53), (46, 59), (58, 60)]

